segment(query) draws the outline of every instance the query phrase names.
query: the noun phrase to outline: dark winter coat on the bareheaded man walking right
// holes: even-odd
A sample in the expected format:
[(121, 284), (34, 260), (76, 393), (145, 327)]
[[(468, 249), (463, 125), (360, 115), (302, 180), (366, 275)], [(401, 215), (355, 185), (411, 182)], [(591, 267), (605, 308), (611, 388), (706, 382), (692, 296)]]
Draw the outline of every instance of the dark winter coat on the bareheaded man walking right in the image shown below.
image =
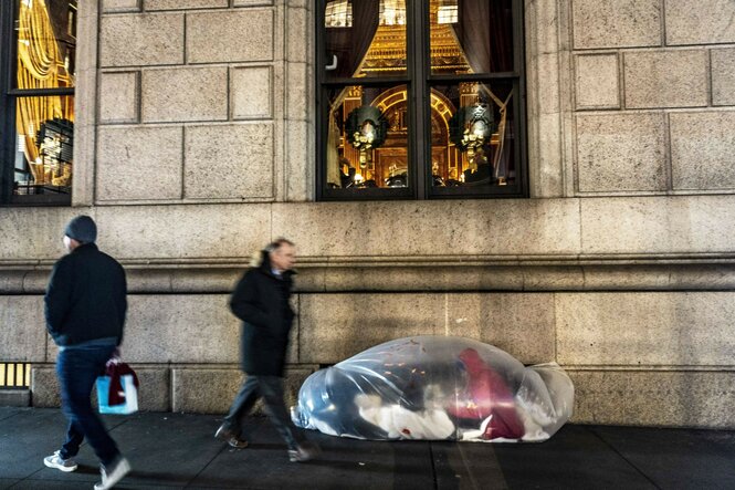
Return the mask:
[(276, 278), (266, 256), (259, 268), (245, 272), (232, 293), (230, 307), (243, 321), (242, 371), (248, 374), (283, 377), (294, 319), (288, 303), (292, 275), (285, 271)]

